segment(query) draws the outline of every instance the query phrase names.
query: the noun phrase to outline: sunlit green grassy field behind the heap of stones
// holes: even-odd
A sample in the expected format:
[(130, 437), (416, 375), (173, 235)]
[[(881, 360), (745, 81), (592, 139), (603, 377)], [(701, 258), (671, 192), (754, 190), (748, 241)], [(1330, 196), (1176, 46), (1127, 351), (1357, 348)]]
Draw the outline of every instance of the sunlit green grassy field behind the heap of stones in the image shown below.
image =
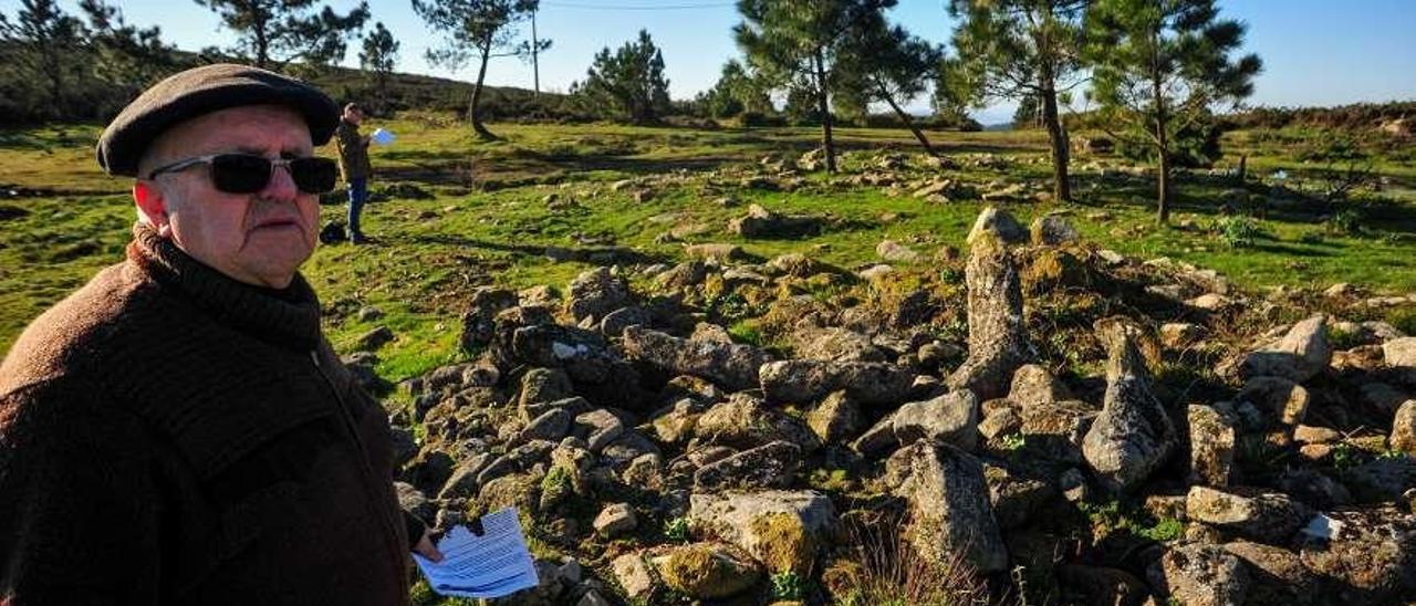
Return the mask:
[[(1376, 159), (1381, 191), (1323, 202), (1321, 168), (1297, 143), (1270, 133), (1229, 133), (1249, 154), (1250, 181), (1202, 173), (1180, 177), (1170, 228), (1153, 221), (1154, 183), (1112, 157), (1073, 159), (1078, 204), (1034, 195), (1048, 190), (1039, 132), (930, 133), (963, 168), (930, 168), (908, 132), (841, 129), (843, 174), (803, 173), (790, 191), (745, 185), (763, 156), (793, 160), (817, 144), (816, 129), (685, 130), (610, 125), (491, 125), (503, 140), (479, 142), (452, 116), (408, 113), (374, 122), (398, 143), (374, 150), (379, 183), (364, 219), (372, 246), (321, 246), (306, 275), (321, 295), (337, 348), (388, 326), (398, 340), (379, 351), (379, 372), (398, 381), (456, 360), (457, 317), (474, 286), (564, 286), (589, 266), (552, 261), (613, 253), (620, 262), (683, 261), (684, 245), (732, 242), (769, 259), (803, 252), (858, 269), (878, 262), (875, 246), (895, 239), (932, 255), (959, 246), (984, 205), (959, 195), (927, 202), (902, 188), (851, 184), (875, 171), (886, 152), (906, 154), (903, 183), (949, 177), (978, 193), (1021, 184), (1024, 200), (1004, 202), (1020, 219), (1069, 212), (1100, 246), (1144, 258), (1170, 256), (1228, 275), (1240, 286), (1323, 289), (1351, 282), (1374, 290), (1416, 290), (1416, 166)], [(47, 306), (122, 258), (133, 221), (129, 183), (103, 177), (92, 156), (95, 126), (0, 133), (0, 351)], [(1306, 139), (1308, 137), (1308, 139)], [(333, 153), (327, 147), (323, 153)], [(1232, 166), (1226, 157), (1222, 166)], [(1362, 166), (1366, 166), (1364, 163)], [(1284, 170), (1281, 183), (1270, 176)], [(1253, 178), (1259, 177), (1259, 178)], [(629, 183), (619, 183), (632, 180)], [(389, 188), (389, 185), (396, 185)], [(337, 202), (331, 195), (330, 202)], [(721, 204), (731, 198), (733, 204)], [(1222, 205), (1252, 215), (1222, 217)], [(824, 214), (831, 228), (799, 239), (745, 241), (726, 231), (748, 204), (777, 212)], [(326, 205), (327, 218), (343, 208)], [(1337, 217), (1337, 219), (1334, 219)], [(677, 241), (663, 234), (675, 231)], [(377, 321), (357, 311), (375, 306)]]

